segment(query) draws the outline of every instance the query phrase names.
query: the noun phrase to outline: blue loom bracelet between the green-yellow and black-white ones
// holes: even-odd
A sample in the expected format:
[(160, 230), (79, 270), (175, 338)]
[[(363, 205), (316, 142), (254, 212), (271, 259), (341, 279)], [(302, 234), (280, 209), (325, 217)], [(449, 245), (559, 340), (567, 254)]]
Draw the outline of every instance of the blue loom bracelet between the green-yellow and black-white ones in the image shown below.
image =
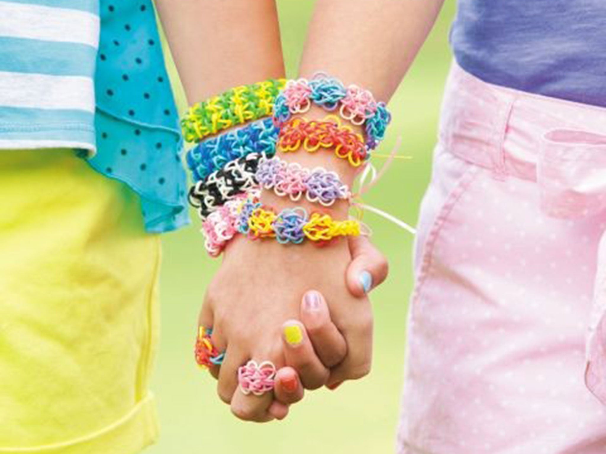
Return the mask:
[(187, 165), (193, 174), (193, 180), (204, 180), (228, 162), (250, 153), (273, 156), (276, 153), (278, 131), (271, 118), (266, 118), (198, 143), (187, 153)]

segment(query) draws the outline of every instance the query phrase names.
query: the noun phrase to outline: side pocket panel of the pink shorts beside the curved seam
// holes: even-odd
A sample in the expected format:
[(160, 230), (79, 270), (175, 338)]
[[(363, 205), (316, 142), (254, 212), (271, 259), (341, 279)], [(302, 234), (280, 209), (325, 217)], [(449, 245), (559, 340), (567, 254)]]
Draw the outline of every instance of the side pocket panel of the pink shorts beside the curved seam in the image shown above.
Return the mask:
[(431, 182), (425, 191), (419, 212), (415, 238), (415, 289), (412, 303), (419, 299), (427, 273), (431, 268), (433, 250), (454, 206), (460, 202), (479, 167), (436, 145)]

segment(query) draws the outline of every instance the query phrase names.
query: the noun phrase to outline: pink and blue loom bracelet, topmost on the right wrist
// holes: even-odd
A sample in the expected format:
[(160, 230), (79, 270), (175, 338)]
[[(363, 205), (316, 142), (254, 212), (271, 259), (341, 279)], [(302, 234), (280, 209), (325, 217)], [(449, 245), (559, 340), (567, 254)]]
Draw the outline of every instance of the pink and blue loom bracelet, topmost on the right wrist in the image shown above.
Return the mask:
[(366, 146), (374, 150), (385, 137), (391, 114), (384, 102), (376, 102), (368, 90), (357, 85), (345, 87), (339, 79), (316, 73), (311, 80), (296, 79), (286, 83), (276, 97), (274, 121), (281, 126), (293, 114), (305, 113), (316, 104), (339, 114), (354, 125), (364, 125)]

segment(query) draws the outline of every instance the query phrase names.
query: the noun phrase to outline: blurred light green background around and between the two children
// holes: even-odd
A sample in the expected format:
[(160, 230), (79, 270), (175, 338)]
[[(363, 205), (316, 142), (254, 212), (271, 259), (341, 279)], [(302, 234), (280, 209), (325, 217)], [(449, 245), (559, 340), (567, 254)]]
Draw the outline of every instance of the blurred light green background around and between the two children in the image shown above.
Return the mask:
[[(254, 1), (254, 0), (251, 0)], [(372, 0), (368, 0), (372, 1)], [(398, 1), (398, 0), (394, 0)], [(439, 104), (450, 65), (448, 27), (454, 2), (445, 2), (436, 27), (390, 102), (393, 123), (379, 153), (402, 136), (399, 154), (365, 201), (415, 225), (430, 178)], [(225, 2), (228, 5), (228, 2)], [(296, 68), (314, 1), (278, 0), (287, 74)], [(381, 33), (381, 30), (377, 30)], [(243, 36), (242, 39), (245, 39)], [(173, 71), (174, 74), (174, 71)], [(183, 104), (181, 93), (179, 104)], [(380, 167), (384, 159), (375, 158)], [(412, 288), (413, 237), (393, 223), (365, 214), (391, 274), (372, 294), (375, 347), (371, 374), (335, 392), (309, 392), (284, 421), (239, 421), (219, 401), (215, 380), (196, 367), (193, 337), (204, 288), (218, 266), (206, 257), (198, 223), (164, 237), (161, 278), (162, 335), (153, 378), (161, 418), (159, 443), (148, 454), (174, 453), (390, 453), (395, 444), (404, 370), (405, 320)]]

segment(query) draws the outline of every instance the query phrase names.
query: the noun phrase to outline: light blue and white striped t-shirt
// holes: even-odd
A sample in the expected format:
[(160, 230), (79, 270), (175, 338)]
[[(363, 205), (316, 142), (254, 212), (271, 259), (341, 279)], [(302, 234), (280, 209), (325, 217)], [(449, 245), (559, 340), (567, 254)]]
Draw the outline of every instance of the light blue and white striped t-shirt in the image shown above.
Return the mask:
[(0, 150), (95, 150), (98, 0), (0, 0)]

